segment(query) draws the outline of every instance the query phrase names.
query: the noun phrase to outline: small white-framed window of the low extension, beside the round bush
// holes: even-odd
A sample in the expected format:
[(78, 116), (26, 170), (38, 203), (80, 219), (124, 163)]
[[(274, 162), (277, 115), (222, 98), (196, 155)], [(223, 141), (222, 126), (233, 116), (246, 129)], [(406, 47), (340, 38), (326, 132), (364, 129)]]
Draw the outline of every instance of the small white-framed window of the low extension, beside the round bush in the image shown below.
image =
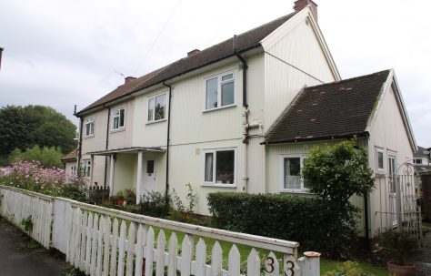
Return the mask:
[(280, 158), (280, 182), (282, 191), (306, 191), (301, 169), (306, 158), (302, 155), (282, 155)]

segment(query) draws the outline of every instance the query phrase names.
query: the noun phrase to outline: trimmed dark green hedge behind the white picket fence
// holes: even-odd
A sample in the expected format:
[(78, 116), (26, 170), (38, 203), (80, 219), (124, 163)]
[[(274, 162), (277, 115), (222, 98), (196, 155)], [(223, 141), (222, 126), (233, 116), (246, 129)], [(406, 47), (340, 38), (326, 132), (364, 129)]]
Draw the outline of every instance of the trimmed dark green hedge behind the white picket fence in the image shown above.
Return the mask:
[(210, 193), (207, 199), (221, 229), (298, 241), (300, 250), (336, 258), (345, 256), (356, 241), (355, 220), (346, 216), (346, 208), (324, 199), (234, 192)]

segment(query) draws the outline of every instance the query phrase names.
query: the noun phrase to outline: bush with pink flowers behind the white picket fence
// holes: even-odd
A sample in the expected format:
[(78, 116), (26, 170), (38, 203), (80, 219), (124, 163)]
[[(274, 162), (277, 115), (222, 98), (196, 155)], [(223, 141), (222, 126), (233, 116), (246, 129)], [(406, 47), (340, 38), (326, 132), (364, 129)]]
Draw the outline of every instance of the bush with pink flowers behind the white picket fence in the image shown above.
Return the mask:
[(86, 181), (75, 174), (67, 174), (65, 169), (44, 168), (35, 160), (16, 160), (12, 166), (0, 170), (0, 184), (68, 199), (85, 199)]

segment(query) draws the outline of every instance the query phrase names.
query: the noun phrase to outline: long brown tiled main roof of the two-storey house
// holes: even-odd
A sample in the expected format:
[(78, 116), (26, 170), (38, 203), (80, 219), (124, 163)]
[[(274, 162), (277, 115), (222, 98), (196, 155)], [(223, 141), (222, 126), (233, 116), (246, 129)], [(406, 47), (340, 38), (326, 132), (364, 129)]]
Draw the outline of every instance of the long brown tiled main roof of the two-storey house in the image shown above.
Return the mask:
[[(282, 26), (293, 15), (296, 15), (296, 13), (297, 12), (290, 15), (285, 15), (263, 26), (258, 26), (255, 29), (237, 36), (236, 46), (238, 51), (244, 52), (256, 46), (260, 46), (260, 41), (262, 41), (262, 39), (274, 32), (277, 27)], [(205, 50), (193, 56), (187, 56), (185, 58), (179, 59), (174, 63), (157, 69), (143, 77), (138, 77), (128, 84), (117, 87), (114, 91), (108, 93), (104, 97), (99, 98), (90, 106), (85, 107), (79, 111), (77, 115), (94, 107), (100, 107), (103, 104), (109, 103), (115, 99), (130, 95), (133, 92), (146, 87), (152, 87), (172, 77), (181, 76), (200, 67), (216, 63), (217, 61), (230, 56), (234, 56), (232, 38), (226, 39), (215, 46), (206, 48)]]

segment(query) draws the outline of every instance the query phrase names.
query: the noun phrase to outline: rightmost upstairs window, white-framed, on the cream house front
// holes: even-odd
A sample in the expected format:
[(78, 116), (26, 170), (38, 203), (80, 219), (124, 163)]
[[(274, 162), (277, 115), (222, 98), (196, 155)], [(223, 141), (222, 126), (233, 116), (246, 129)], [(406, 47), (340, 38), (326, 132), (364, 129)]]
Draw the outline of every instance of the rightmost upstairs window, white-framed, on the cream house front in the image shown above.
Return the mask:
[(205, 110), (235, 105), (234, 72), (205, 80)]

